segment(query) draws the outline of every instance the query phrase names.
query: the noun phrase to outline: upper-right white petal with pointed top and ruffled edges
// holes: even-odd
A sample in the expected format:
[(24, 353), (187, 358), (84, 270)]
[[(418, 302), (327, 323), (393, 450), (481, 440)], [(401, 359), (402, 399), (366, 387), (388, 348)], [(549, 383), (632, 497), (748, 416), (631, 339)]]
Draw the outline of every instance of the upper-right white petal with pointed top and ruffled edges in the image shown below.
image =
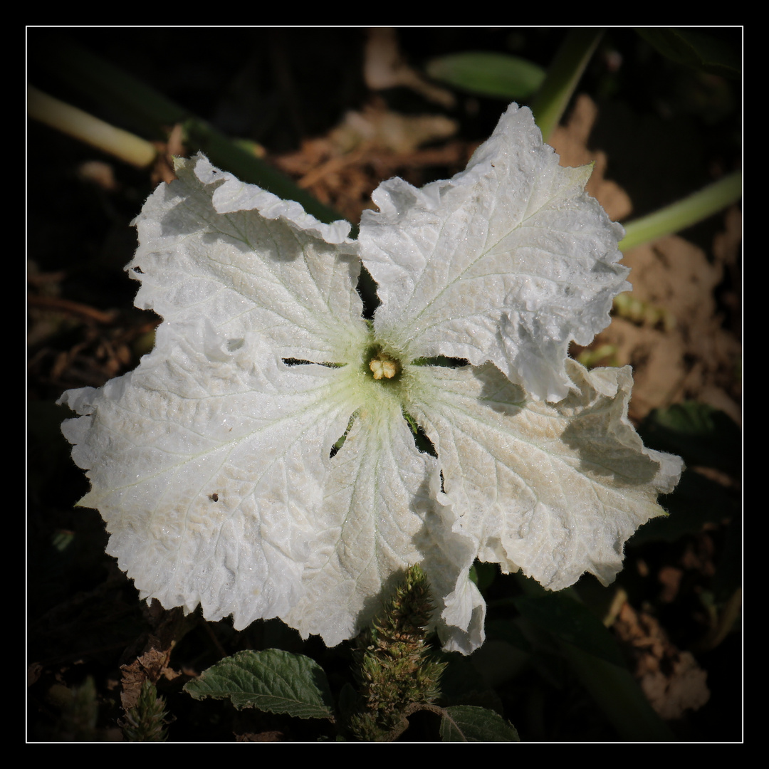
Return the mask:
[(454, 178), (381, 184), (359, 236), (377, 334), (404, 358), (493, 361), (534, 398), (564, 398), (569, 342), (587, 345), (631, 288), (624, 231), (584, 191), (590, 173), (561, 168), (513, 104)]

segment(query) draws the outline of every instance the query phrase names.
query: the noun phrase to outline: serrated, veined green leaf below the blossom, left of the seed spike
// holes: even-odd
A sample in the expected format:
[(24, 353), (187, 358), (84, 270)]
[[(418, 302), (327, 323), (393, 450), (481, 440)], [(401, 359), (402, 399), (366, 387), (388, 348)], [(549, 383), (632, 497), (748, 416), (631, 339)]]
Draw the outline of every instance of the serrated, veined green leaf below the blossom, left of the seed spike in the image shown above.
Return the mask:
[(280, 649), (238, 651), (209, 667), (185, 691), (201, 700), (228, 698), (240, 710), (334, 720), (334, 701), (323, 669), (314, 660)]

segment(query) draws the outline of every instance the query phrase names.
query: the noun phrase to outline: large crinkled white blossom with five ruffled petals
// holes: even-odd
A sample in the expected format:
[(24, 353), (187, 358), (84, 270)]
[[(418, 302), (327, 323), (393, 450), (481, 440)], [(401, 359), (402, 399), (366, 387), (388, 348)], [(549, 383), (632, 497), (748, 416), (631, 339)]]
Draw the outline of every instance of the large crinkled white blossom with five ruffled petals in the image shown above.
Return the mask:
[(511, 105), (453, 179), (380, 185), (352, 241), (178, 161), (128, 265), (163, 318), (155, 349), (61, 399), (82, 414), (63, 425), (92, 482), (79, 504), (141, 596), (333, 645), (419, 563), (445, 647), (468, 653), (475, 558), (553, 590), (610, 582), (682, 465), (629, 423), (629, 368), (567, 355), (629, 288), (590, 170), (561, 168)]

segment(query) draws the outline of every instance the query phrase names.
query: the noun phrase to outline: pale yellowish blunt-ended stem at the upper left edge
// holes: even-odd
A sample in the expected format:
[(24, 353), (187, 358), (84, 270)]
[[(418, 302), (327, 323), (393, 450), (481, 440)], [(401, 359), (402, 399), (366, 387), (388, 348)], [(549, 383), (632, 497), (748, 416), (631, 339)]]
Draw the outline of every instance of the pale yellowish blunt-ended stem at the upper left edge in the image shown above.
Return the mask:
[(82, 109), (60, 102), (38, 91), (33, 85), (27, 86), (27, 114), (50, 128), (85, 141), (138, 168), (151, 165), (158, 154), (149, 141), (123, 131), (122, 128), (115, 128)]

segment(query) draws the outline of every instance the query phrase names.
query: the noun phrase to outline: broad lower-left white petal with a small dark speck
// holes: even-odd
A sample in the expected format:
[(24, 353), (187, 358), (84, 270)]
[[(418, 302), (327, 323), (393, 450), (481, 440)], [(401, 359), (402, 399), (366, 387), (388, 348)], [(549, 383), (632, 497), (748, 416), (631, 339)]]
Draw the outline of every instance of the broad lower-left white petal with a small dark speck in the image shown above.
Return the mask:
[[(331, 447), (350, 416), (345, 369), (288, 368), (245, 345), (211, 361), (178, 339), (104, 388), (61, 402), (75, 462), (142, 598), (235, 628), (303, 592)], [(257, 365), (255, 361), (263, 361)]]

